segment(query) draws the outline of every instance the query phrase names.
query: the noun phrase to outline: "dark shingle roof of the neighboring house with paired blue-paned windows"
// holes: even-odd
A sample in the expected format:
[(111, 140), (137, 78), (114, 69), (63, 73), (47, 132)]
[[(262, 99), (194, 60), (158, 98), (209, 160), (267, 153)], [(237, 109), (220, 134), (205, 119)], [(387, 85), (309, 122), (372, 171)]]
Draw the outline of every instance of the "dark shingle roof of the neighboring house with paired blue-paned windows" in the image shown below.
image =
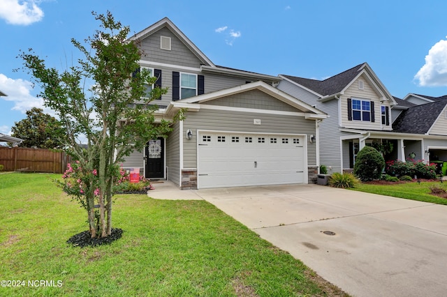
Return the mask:
[(308, 79), (304, 77), (294, 77), (291, 75), (282, 75), (287, 79), (290, 79), (297, 84), (305, 86), (307, 89), (311, 89), (322, 96), (328, 96), (332, 94), (339, 93), (342, 91), (356, 76), (358, 72), (362, 69), (365, 63), (361, 63), (351, 69), (348, 69), (342, 73), (329, 77), (324, 80)]

